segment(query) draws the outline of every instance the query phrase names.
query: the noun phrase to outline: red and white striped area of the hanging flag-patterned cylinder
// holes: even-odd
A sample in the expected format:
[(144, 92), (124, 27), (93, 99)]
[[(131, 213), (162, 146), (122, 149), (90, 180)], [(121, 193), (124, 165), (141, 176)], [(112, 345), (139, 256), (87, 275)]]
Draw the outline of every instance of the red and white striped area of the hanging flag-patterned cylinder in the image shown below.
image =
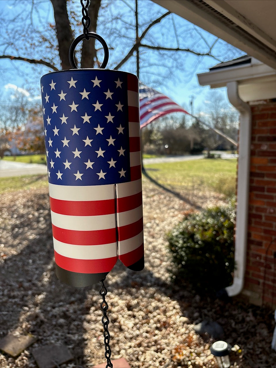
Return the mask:
[(137, 78), (129, 77), (128, 87), (131, 181), (88, 186), (49, 183), (55, 261), (62, 269), (110, 272), (117, 258), (131, 266), (144, 255)]

